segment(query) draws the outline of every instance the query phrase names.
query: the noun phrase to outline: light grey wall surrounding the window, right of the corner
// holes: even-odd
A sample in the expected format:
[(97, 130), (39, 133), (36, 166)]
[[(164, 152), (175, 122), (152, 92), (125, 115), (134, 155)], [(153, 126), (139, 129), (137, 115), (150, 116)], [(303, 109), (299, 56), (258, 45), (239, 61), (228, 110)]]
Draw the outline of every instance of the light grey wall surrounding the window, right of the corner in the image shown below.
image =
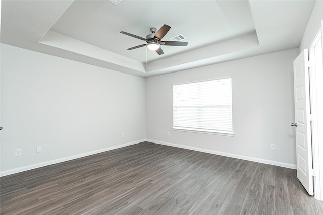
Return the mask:
[[(296, 168), (295, 129), (290, 124), (297, 55), (298, 49), (292, 49), (147, 78), (147, 140)], [(172, 131), (172, 84), (228, 75), (232, 76), (234, 137)], [(277, 151), (271, 151), (271, 144)]]

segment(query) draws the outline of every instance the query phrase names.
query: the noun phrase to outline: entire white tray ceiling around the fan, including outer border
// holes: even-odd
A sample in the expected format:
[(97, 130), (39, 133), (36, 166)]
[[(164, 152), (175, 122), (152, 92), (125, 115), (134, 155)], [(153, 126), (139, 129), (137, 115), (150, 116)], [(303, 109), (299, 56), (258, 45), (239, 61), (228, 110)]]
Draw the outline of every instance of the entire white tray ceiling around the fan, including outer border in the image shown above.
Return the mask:
[[(1, 42), (132, 75), (149, 77), (299, 47), (314, 0), (3, 0)], [(146, 37), (171, 26), (163, 40), (184, 35), (187, 46)], [(147, 62), (147, 65), (146, 65)]]

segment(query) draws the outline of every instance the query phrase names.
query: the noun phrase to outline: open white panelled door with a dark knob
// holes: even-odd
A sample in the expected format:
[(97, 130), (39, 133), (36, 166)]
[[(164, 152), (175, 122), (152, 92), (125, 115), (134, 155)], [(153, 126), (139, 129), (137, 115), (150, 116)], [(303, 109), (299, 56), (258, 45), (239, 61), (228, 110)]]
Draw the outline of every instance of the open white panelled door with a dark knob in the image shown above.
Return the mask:
[(313, 195), (311, 115), (308, 50), (294, 60), (294, 97), (296, 128), (297, 178), (309, 195)]

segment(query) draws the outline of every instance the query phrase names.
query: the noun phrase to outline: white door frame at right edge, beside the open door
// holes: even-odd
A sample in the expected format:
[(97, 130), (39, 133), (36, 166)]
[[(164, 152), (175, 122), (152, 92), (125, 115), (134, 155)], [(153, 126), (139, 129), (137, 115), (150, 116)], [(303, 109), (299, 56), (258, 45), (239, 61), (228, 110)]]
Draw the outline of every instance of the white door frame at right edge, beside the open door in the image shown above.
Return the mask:
[[(323, 20), (322, 20), (323, 26)], [(315, 58), (314, 46), (318, 44), (323, 52), (322, 44), (322, 31), (321, 29), (316, 34), (314, 40), (308, 48), (308, 59), (310, 62), (310, 100), (311, 100), (311, 112), (312, 112), (312, 157), (313, 157), (313, 185), (314, 185), (314, 197), (319, 200), (323, 200), (323, 134), (318, 132), (323, 130), (323, 64), (318, 65)], [(319, 45), (319, 44), (318, 44)], [(322, 53), (323, 56), (323, 53)]]

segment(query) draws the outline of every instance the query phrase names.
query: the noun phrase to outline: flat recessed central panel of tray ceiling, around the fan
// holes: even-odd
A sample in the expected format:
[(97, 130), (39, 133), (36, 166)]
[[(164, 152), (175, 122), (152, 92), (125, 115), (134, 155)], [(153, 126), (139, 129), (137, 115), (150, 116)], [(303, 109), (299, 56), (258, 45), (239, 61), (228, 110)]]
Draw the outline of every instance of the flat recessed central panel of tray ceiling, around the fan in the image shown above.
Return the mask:
[[(152, 3), (153, 2), (153, 3)], [(171, 26), (163, 38), (183, 34), (188, 46), (162, 46), (163, 55), (141, 47), (151, 27)], [(50, 29), (93, 46), (145, 63), (255, 32), (248, 1), (74, 1)], [(147, 51), (147, 58), (146, 58)]]

